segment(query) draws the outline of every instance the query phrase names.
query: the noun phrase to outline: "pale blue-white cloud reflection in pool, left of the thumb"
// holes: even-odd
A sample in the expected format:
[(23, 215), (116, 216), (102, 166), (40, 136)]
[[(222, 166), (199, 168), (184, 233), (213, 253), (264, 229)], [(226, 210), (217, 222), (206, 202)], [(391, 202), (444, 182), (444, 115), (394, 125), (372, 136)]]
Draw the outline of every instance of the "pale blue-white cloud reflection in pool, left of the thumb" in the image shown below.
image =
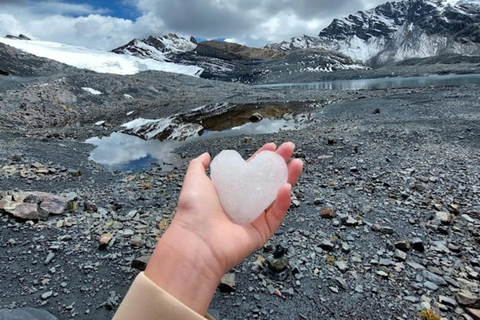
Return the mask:
[(145, 141), (115, 132), (109, 137), (95, 137), (85, 142), (97, 146), (89, 159), (103, 164), (109, 170), (142, 171), (147, 170), (153, 162), (158, 162), (162, 169), (169, 170), (179, 159), (173, 153), (179, 143), (173, 141)]

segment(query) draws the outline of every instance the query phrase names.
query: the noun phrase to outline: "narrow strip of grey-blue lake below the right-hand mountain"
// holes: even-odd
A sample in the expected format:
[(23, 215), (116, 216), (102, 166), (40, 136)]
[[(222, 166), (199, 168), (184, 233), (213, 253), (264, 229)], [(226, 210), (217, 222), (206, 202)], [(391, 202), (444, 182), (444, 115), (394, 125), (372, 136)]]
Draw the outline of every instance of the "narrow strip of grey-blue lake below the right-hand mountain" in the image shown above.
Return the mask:
[(315, 90), (377, 90), (430, 86), (480, 85), (480, 74), (432, 75), (428, 77), (392, 77), (377, 79), (334, 80), (310, 83), (256, 85), (259, 88), (302, 88)]

